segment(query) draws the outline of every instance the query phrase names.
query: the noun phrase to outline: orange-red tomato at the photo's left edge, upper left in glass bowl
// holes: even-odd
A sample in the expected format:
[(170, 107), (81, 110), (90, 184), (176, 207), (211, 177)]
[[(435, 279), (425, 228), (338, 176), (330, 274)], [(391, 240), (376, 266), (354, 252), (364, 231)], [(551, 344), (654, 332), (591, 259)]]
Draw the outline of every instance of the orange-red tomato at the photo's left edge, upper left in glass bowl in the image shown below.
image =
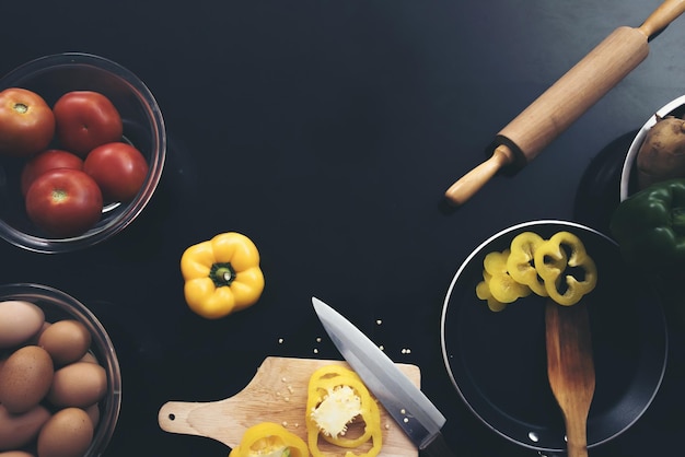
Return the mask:
[(19, 87), (0, 92), (0, 153), (25, 157), (46, 149), (54, 136), (55, 116), (40, 95)]

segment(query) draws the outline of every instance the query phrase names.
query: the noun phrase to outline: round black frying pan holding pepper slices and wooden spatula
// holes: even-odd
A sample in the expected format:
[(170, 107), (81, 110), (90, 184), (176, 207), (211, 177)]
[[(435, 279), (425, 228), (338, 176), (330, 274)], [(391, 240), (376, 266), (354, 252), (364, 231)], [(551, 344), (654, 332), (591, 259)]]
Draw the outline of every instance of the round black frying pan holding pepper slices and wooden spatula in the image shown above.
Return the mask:
[(597, 266), (588, 304), (596, 388), (588, 418), (588, 447), (626, 431), (647, 410), (664, 374), (667, 337), (657, 296), (623, 262), (616, 244), (564, 221), (527, 222), (484, 242), (464, 261), (442, 310), (442, 352), (458, 394), (489, 427), (539, 452), (566, 449), (561, 412), (547, 380), (545, 298), (534, 294), (492, 313), (475, 293), (483, 260), (521, 232), (548, 238), (578, 235)]

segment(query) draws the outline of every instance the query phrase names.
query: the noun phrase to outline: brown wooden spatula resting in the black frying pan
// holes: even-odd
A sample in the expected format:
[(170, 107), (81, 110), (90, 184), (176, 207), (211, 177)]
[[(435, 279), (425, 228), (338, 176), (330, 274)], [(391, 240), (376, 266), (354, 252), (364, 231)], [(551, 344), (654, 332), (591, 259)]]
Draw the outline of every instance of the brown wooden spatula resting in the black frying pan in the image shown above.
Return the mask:
[(581, 301), (545, 309), (547, 376), (566, 423), (569, 457), (588, 456), (588, 413), (594, 395), (590, 319)]

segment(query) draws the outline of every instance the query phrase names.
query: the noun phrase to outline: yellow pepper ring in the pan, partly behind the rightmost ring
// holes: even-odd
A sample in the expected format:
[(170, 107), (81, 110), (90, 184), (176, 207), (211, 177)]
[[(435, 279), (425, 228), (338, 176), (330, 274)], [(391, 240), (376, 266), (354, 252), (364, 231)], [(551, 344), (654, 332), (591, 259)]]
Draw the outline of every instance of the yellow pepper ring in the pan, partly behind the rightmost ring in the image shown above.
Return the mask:
[[(539, 296), (547, 296), (545, 282), (535, 269), (535, 251), (545, 243), (545, 239), (536, 233), (523, 232), (516, 235), (510, 245), (507, 271), (514, 281), (525, 284)], [(566, 262), (566, 256), (564, 258)]]

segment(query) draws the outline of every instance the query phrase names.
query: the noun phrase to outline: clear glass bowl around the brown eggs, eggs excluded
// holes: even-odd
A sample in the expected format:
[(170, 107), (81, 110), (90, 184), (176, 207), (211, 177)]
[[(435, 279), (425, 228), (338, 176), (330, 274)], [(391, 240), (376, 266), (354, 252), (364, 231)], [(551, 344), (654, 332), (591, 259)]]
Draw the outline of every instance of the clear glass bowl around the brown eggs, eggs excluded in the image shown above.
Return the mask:
[(95, 457), (104, 453), (116, 427), (121, 407), (121, 373), (116, 351), (109, 337), (97, 318), (74, 297), (40, 284), (0, 285), (0, 302), (25, 301), (39, 306), (45, 313), (45, 320), (54, 323), (61, 319), (77, 319), (91, 332), (91, 353), (105, 368), (107, 391), (100, 401), (100, 421), (84, 457)]

